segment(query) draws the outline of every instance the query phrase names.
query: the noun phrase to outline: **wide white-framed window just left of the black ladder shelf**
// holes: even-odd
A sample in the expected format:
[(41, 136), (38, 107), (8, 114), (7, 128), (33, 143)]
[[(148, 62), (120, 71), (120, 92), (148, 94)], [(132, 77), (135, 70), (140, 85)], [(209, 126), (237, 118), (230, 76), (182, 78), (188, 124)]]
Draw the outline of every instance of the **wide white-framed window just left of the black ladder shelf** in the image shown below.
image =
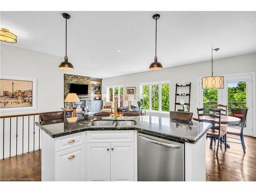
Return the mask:
[(170, 83), (155, 82), (140, 85), (143, 94), (143, 108), (148, 111), (169, 112), (170, 110)]

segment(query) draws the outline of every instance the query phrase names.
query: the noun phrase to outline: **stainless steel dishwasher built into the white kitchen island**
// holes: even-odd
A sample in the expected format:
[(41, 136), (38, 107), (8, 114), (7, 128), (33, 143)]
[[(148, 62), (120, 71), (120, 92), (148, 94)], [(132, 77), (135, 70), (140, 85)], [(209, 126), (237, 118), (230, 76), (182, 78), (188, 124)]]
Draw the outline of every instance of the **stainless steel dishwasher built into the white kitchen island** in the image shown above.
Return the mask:
[(138, 181), (184, 181), (184, 143), (137, 133)]

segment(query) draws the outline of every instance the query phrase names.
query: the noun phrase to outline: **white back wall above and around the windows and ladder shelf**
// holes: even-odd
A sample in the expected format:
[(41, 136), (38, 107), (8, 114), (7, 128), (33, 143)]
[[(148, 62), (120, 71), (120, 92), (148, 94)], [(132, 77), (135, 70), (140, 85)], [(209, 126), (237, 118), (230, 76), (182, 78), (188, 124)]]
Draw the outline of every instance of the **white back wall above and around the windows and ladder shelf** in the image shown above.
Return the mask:
[[(148, 66), (150, 63), (148, 63)], [(162, 63), (164, 67), (164, 63)], [(197, 109), (197, 78), (208, 76), (211, 73), (211, 62), (204, 61), (193, 63), (189, 65), (166, 68), (160, 71), (148, 71), (130, 75), (123, 75), (112, 78), (105, 78), (102, 80), (103, 93), (106, 93), (106, 86), (123, 85), (125, 87), (137, 87), (139, 93), (140, 83), (144, 82), (157, 82), (157, 81), (170, 81), (171, 92), (171, 109), (174, 110), (175, 102), (175, 84), (181, 83), (183, 79), (191, 82), (191, 112), (196, 112)], [(222, 58), (214, 60), (214, 74), (227, 75), (238, 74), (256, 71), (256, 53)], [(136, 102), (136, 101), (135, 101)], [(135, 103), (134, 102), (134, 103)], [(127, 104), (126, 102), (124, 104)]]

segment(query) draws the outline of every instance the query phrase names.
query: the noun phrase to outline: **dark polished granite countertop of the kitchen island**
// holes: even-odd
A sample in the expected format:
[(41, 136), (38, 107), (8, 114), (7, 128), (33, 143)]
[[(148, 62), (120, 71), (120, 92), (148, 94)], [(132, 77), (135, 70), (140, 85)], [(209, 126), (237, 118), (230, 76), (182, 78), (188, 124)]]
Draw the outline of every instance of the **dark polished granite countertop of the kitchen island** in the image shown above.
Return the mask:
[(65, 120), (40, 121), (35, 124), (52, 138), (83, 131), (136, 130), (156, 137), (188, 143), (196, 143), (211, 127), (210, 123), (172, 121), (169, 118), (155, 116), (124, 117), (123, 121), (137, 122), (132, 126), (88, 126), (93, 120), (112, 119), (109, 117), (71, 117)]

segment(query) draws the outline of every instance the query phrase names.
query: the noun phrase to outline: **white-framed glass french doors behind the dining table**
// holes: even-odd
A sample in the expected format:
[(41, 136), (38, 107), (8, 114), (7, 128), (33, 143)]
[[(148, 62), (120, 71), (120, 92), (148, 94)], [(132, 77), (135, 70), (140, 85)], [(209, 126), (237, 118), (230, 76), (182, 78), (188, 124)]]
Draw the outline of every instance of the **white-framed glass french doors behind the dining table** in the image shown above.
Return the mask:
[[(248, 107), (246, 127), (244, 134), (256, 136), (256, 130), (253, 130), (255, 121), (253, 114), (255, 109), (252, 108), (252, 102), (255, 100), (255, 79), (254, 74), (236, 74), (224, 76), (224, 89), (219, 90), (202, 90), (202, 80), (198, 81), (198, 106), (199, 108), (215, 108), (217, 104), (228, 105), (228, 115), (231, 115), (232, 108)], [(255, 115), (254, 115), (255, 116)], [(230, 125), (240, 129), (241, 125)], [(254, 134), (253, 134), (254, 132)]]

